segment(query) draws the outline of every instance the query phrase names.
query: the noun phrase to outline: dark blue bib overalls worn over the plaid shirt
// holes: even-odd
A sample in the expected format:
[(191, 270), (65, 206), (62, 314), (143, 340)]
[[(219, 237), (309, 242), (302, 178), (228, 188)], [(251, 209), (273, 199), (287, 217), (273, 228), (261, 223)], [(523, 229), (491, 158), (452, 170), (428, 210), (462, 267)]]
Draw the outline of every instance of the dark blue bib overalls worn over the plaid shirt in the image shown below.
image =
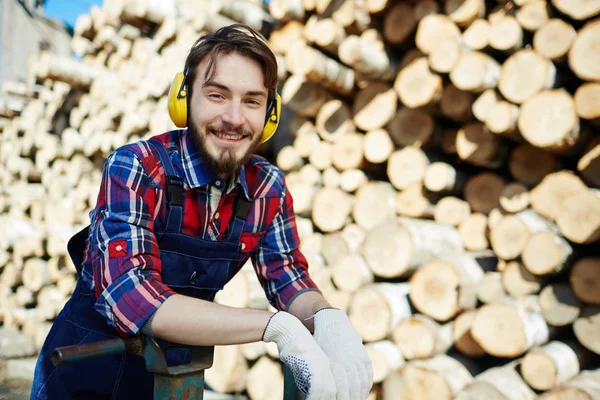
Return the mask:
[[(251, 203), (238, 195), (224, 240), (209, 241), (183, 233), (185, 189), (182, 174), (173, 167), (162, 143), (148, 141), (166, 174), (167, 212), (155, 221), (155, 234), (163, 265), (162, 280), (175, 292), (212, 301), (231, 278), (230, 270), (240, 262), (240, 237)], [(238, 192), (239, 193), (239, 192)], [(75, 235), (68, 245), (78, 274), (81, 271), (88, 229)], [(78, 279), (76, 288), (59, 313), (40, 351), (31, 399), (152, 399), (153, 375), (141, 356), (123, 353), (80, 361), (55, 368), (50, 360), (57, 347), (86, 344), (118, 337), (114, 328), (95, 309), (93, 290)], [(160, 343), (160, 341), (159, 341)], [(165, 350), (169, 365), (190, 361), (185, 348)]]

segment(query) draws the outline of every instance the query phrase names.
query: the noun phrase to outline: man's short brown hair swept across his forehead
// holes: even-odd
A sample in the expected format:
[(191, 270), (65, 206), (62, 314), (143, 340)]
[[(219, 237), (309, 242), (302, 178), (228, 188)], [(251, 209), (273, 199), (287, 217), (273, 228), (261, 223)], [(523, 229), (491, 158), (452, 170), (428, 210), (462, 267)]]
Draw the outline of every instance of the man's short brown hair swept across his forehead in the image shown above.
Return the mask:
[(185, 60), (185, 74), (188, 91), (188, 103), (192, 98), (197, 67), (208, 57), (208, 68), (204, 78), (211, 79), (215, 74), (215, 61), (220, 55), (237, 53), (259, 63), (263, 70), (265, 87), (269, 99), (275, 96), (277, 87), (277, 60), (267, 45), (265, 38), (251, 27), (233, 24), (220, 28), (214, 33), (201, 36), (192, 46)]

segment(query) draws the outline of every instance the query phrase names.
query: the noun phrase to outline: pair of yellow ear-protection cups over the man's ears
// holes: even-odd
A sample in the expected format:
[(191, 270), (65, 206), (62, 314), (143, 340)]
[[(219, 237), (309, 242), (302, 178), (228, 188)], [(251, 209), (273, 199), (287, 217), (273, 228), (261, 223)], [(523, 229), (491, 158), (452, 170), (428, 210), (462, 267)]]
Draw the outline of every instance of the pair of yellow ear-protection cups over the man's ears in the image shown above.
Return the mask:
[[(187, 126), (187, 73), (178, 72), (169, 88), (169, 117), (178, 128)], [(281, 115), (281, 96), (275, 92), (275, 97), (267, 105), (267, 114), (261, 143), (271, 139), (279, 126)]]

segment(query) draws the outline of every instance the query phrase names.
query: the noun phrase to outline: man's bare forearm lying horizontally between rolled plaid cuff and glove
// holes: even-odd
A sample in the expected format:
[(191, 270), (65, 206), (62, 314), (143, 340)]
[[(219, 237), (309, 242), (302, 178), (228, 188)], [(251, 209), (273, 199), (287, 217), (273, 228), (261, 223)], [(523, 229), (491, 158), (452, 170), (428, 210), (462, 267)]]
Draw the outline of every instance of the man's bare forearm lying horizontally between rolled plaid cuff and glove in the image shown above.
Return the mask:
[(233, 308), (173, 295), (156, 311), (154, 336), (192, 346), (231, 345), (262, 340), (272, 312)]

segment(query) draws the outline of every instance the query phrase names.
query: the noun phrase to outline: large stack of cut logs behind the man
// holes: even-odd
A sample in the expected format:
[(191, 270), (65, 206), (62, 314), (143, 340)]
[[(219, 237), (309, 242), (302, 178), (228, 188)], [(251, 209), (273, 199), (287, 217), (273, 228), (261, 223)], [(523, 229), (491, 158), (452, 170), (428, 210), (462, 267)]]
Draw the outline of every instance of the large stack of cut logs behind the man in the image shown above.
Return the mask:
[[(172, 129), (198, 35), (268, 37), (302, 250), (373, 360), (371, 399), (600, 398), (600, 2), (105, 0), (0, 114), (0, 321), (40, 345), (115, 148)], [(35, 88), (35, 89), (31, 89)], [(13, 89), (17, 90), (17, 89)], [(269, 308), (248, 264), (217, 301)], [(264, 379), (269, 376), (269, 379)], [(207, 382), (280, 399), (277, 349)]]

